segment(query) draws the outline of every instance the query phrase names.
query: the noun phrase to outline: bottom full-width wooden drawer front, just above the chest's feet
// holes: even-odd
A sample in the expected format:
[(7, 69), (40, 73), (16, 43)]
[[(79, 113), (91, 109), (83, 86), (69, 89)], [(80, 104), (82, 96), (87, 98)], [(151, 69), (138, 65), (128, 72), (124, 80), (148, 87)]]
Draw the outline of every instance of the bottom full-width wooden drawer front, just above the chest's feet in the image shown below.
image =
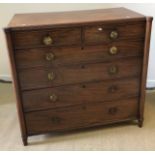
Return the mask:
[(26, 113), (28, 134), (71, 130), (137, 117), (138, 99), (83, 104), (55, 110)]

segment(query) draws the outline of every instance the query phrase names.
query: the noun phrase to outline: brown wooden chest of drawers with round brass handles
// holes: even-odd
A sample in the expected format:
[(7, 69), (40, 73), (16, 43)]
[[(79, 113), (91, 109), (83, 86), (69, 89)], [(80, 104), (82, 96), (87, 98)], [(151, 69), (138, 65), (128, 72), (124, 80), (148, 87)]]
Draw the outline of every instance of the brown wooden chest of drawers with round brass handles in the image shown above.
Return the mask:
[(5, 33), (24, 145), (48, 132), (142, 126), (151, 23), (125, 8), (15, 15)]

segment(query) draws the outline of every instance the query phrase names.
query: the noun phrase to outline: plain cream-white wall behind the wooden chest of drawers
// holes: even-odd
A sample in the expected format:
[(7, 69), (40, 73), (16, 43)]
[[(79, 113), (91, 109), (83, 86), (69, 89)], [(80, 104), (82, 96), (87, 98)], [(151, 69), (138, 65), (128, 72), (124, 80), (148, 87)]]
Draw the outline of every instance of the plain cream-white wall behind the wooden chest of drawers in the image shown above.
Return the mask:
[[(0, 4), (0, 79), (11, 79), (3, 28), (16, 13), (89, 10), (123, 6), (155, 18), (155, 4)], [(154, 43), (154, 44), (153, 44)], [(153, 24), (147, 86), (155, 87), (155, 26)]]

